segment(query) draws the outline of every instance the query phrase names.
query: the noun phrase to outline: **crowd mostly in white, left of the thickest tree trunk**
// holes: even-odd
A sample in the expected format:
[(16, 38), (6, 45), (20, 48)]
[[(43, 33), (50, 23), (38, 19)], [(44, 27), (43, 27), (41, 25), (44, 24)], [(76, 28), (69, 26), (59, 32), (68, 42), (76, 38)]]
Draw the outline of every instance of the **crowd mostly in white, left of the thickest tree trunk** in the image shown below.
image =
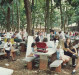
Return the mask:
[[(7, 54), (8, 61), (15, 61), (14, 51), (15, 43), (19, 43), (27, 40), (27, 32), (25, 31), (16, 31), (16, 32), (2, 32), (0, 33), (0, 45), (4, 43), (3, 51)], [(12, 42), (11, 42), (12, 39)]]

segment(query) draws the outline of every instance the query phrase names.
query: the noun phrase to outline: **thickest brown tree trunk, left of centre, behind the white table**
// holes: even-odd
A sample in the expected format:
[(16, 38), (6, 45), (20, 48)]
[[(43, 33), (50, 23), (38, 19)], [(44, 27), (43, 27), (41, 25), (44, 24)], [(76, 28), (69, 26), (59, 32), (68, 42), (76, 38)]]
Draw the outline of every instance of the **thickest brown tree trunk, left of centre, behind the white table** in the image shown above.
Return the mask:
[(26, 17), (27, 17), (27, 33), (31, 35), (32, 30), (32, 22), (31, 22), (31, 8), (29, 0), (24, 0), (25, 10), (26, 10)]

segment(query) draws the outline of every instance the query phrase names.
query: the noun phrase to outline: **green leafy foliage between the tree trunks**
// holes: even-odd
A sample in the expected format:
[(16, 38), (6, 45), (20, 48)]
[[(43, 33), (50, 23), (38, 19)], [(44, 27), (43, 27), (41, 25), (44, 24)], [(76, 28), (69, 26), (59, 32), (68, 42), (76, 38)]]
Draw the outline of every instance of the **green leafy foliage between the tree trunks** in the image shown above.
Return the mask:
[[(49, 3), (49, 27), (57, 27), (61, 25), (60, 4), (62, 6), (63, 23), (65, 22), (66, 17), (68, 18), (69, 24), (79, 21), (79, 0), (66, 0), (65, 2), (62, 2), (62, 0), (52, 1), (54, 1), (52, 6), (51, 0)], [(34, 5), (32, 5), (31, 0), (30, 2), (32, 10), (32, 26), (38, 26), (40, 24), (45, 26), (46, 0), (34, 0)], [(25, 28), (27, 21), (23, 0), (13, 0), (11, 3), (9, 3), (9, 0), (0, 0), (0, 25), (2, 27), (6, 28), (8, 7), (11, 10), (10, 26), (17, 27), (17, 6), (20, 9), (20, 28)], [(67, 9), (65, 10), (65, 8)]]

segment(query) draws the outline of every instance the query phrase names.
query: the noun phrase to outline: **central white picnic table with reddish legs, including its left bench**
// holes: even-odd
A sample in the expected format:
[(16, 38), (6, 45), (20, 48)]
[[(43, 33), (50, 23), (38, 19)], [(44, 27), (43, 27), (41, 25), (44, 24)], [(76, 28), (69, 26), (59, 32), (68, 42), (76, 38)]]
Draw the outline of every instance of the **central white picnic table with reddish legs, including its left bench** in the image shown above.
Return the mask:
[[(32, 69), (32, 60), (35, 59), (35, 57), (28, 57), (28, 55), (30, 53), (32, 53), (32, 48), (31, 48), (31, 44), (34, 42), (33, 36), (28, 36), (28, 41), (27, 41), (27, 51), (26, 51), (26, 57), (23, 59), (24, 61), (27, 62), (27, 68), (28, 69)], [(52, 43), (53, 45), (53, 43)], [(48, 57), (51, 58), (52, 61), (54, 61), (54, 59), (56, 59), (56, 46), (57, 44), (54, 43), (54, 47), (49, 47), (47, 48), (48, 52), (47, 53), (43, 53), (43, 52), (35, 52), (33, 54), (39, 55), (40, 56), (40, 66), (39, 68), (41, 70), (47, 70), (48, 67)]]

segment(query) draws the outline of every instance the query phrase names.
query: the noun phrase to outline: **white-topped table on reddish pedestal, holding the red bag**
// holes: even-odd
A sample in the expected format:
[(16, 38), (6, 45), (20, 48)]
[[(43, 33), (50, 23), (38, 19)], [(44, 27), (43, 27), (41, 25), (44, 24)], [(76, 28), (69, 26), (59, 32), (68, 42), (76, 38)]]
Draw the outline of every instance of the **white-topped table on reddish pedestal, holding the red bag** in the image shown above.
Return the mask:
[(34, 52), (34, 54), (40, 56), (40, 66), (39, 68), (41, 70), (46, 70), (48, 67), (48, 57), (52, 57), (56, 53), (56, 48), (47, 48), (48, 52), (47, 53), (42, 53), (42, 52)]

